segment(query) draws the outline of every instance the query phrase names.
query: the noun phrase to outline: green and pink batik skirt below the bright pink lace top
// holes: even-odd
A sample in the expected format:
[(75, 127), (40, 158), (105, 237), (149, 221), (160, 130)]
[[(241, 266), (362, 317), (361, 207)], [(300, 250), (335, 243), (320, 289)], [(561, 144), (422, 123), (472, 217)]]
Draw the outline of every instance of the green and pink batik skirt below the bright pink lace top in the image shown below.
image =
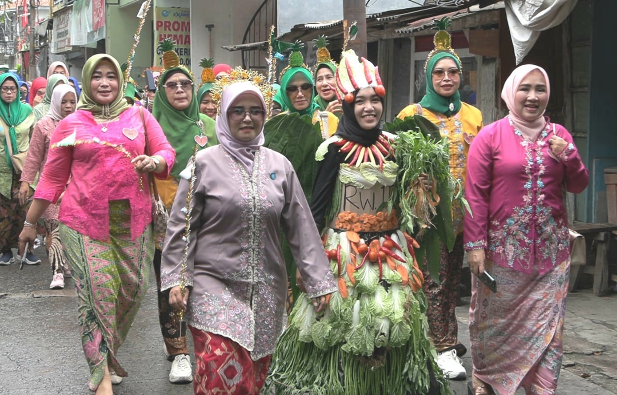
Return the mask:
[(79, 303), (81, 344), (90, 368), (88, 387), (96, 391), (105, 361), (110, 372), (127, 376), (117, 360), (148, 287), (154, 256), (152, 227), (131, 240), (127, 200), (109, 203), (109, 242), (60, 225)]

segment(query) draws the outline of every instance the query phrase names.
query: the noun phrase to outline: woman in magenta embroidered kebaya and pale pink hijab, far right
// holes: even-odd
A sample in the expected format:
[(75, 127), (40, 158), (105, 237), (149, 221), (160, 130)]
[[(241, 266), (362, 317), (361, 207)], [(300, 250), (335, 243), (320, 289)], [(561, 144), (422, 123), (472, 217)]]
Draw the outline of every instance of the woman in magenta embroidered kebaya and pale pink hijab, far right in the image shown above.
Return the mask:
[[(561, 367), (570, 243), (563, 189), (589, 181), (572, 136), (544, 117), (547, 73), (523, 65), (505, 81), (510, 114), (471, 144), (465, 249), (474, 273), (470, 343), (475, 394), (553, 395)], [(497, 293), (478, 280), (484, 271)]]

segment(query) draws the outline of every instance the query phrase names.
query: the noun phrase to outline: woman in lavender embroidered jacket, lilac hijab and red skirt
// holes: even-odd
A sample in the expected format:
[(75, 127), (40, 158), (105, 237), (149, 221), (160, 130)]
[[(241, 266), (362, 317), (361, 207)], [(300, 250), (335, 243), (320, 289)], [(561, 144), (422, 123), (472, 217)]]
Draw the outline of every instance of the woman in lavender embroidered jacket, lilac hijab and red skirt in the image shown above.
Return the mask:
[[(283, 155), (262, 147), (266, 111), (260, 89), (249, 81), (223, 90), (217, 116), (220, 144), (197, 152), (181, 173), (170, 214), (161, 289), (170, 289), (173, 307), (186, 309), (197, 395), (259, 394), (283, 330), (287, 273), (281, 228), (318, 310), (325, 307), (326, 294), (336, 291), (294, 168)], [(183, 270), (187, 178), (193, 166)], [(184, 296), (181, 283), (187, 286)]]

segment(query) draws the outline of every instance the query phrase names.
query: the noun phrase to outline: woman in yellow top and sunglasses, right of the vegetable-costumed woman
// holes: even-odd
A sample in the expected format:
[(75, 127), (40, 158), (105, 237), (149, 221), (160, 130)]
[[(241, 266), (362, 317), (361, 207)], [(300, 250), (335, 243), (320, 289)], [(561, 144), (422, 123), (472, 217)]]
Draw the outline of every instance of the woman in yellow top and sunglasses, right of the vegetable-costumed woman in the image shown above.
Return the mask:
[[(426, 59), (426, 96), (418, 104), (405, 107), (397, 116), (400, 119), (415, 114), (433, 122), (442, 137), (450, 144), (450, 171), (464, 186), (467, 153), (473, 137), (482, 128), (482, 114), (476, 107), (460, 100), (458, 88), (461, 80), (461, 62), (453, 51), (451, 37), (445, 29), (447, 18), (437, 23), (439, 31), (434, 36), (435, 49)], [(455, 242), (453, 248), (441, 241), (439, 284), (425, 269), (424, 292), (428, 298), (428, 323), (431, 338), (439, 353), (439, 366), (451, 379), (466, 378), (465, 368), (458, 356), (466, 348), (458, 341), (455, 316), (457, 293), (463, 265), (463, 207), (454, 204), (452, 212)], [(424, 266), (426, 268), (426, 265)]]

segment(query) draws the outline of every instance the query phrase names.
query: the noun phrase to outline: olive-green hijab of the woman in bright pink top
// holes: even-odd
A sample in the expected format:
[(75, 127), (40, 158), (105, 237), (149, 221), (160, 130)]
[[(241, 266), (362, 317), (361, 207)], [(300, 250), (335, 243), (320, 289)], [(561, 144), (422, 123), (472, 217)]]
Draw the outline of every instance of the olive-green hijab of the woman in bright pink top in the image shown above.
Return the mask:
[(94, 101), (92, 89), (90, 87), (90, 82), (92, 81), (94, 69), (96, 69), (96, 66), (99, 64), (99, 62), (101, 62), (101, 60), (109, 60), (109, 62), (114, 65), (114, 69), (117, 73), (118, 95), (115, 97), (114, 101), (105, 106), (109, 109), (109, 117), (115, 118), (118, 117), (118, 115), (122, 114), (124, 110), (130, 109), (131, 106), (129, 106), (129, 104), (126, 102), (126, 99), (124, 98), (124, 95), (122, 94), (121, 89), (124, 86), (124, 73), (122, 72), (122, 70), (120, 70), (120, 64), (118, 64), (118, 60), (115, 60), (113, 56), (107, 54), (94, 55), (90, 57), (86, 64), (83, 66), (83, 70), (81, 71), (81, 96), (79, 98), (79, 102), (77, 103), (77, 109), (89, 111), (92, 113), (92, 115), (104, 115), (104, 106)]

